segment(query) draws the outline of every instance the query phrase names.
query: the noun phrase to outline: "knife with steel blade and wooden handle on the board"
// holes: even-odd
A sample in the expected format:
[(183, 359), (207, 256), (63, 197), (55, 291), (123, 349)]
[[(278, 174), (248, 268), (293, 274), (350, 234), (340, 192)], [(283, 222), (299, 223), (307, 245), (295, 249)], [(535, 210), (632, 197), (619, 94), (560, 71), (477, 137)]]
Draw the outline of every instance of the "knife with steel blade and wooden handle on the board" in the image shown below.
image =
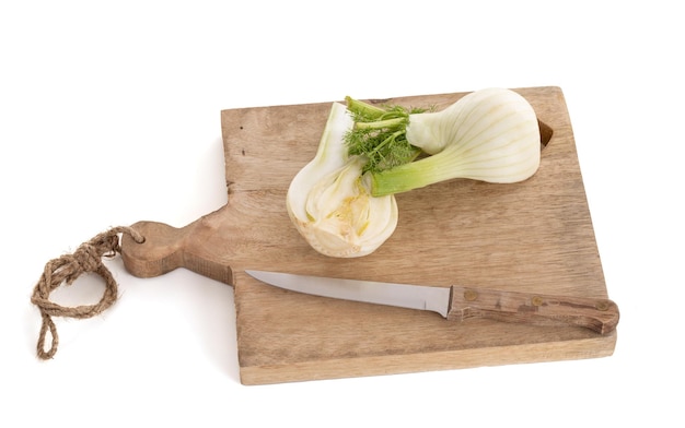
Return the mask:
[(246, 270), (266, 284), (292, 292), (367, 304), (420, 309), (450, 321), (487, 318), (533, 325), (576, 325), (608, 334), (618, 324), (618, 306), (608, 299), (436, 287)]

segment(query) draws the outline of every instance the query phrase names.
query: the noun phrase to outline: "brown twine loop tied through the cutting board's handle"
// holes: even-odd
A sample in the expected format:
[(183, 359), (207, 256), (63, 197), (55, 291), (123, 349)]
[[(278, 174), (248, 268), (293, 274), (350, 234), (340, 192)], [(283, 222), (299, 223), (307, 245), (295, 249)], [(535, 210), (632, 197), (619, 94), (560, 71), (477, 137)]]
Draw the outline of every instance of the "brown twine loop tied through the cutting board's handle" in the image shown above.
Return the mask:
[[(31, 301), (40, 310), (43, 323), (38, 335), (37, 355), (42, 359), (49, 359), (57, 353), (59, 336), (53, 317), (91, 318), (107, 308), (117, 299), (117, 283), (109, 270), (103, 264), (103, 258), (114, 258), (121, 252), (119, 234), (128, 234), (138, 243), (144, 242), (140, 233), (131, 227), (114, 227), (83, 242), (72, 254), (65, 254), (46, 263), (36, 284)], [(50, 301), (50, 294), (61, 284), (71, 285), (81, 274), (95, 273), (105, 281), (105, 290), (95, 305), (63, 307)], [(47, 333), (50, 333), (50, 348), (45, 350)]]

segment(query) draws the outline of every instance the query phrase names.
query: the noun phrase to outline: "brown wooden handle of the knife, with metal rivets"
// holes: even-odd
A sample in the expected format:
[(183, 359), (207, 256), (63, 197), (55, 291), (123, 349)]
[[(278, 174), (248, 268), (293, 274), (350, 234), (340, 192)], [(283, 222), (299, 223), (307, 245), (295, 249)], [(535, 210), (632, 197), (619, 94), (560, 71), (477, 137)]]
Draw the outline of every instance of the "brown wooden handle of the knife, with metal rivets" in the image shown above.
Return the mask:
[(452, 287), (448, 320), (488, 318), (535, 325), (578, 325), (607, 334), (618, 324), (608, 299)]

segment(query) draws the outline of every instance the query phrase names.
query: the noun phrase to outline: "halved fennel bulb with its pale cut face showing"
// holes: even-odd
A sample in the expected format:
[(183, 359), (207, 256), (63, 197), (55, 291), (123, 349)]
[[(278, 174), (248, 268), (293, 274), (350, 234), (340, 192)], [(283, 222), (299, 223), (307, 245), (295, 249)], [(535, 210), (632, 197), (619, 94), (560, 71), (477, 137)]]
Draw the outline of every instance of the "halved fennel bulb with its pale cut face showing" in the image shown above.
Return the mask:
[(365, 160), (349, 156), (345, 133), (352, 119), (333, 103), (316, 155), (292, 179), (287, 194), (290, 219), (324, 255), (352, 258), (375, 251), (397, 226), (394, 195), (372, 197), (362, 183)]

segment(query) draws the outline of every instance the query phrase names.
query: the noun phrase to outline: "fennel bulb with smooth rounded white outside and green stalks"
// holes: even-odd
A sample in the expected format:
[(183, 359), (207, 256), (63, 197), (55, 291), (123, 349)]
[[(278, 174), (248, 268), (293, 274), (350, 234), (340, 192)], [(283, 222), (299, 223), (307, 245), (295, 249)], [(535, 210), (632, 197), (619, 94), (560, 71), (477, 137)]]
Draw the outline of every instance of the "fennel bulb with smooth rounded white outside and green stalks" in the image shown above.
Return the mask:
[(454, 178), (512, 183), (530, 178), (539, 167), (537, 116), (525, 98), (510, 90), (476, 91), (438, 112), (406, 112), (393, 121), (371, 118), (358, 122), (347, 135), (351, 152), (365, 151), (373, 156), (387, 146), (376, 141), (373, 148), (359, 151), (355, 139), (370, 128), (375, 128), (383, 141), (387, 133), (403, 133), (411, 146), (428, 155), (390, 168), (368, 168), (364, 181), (376, 197)]

